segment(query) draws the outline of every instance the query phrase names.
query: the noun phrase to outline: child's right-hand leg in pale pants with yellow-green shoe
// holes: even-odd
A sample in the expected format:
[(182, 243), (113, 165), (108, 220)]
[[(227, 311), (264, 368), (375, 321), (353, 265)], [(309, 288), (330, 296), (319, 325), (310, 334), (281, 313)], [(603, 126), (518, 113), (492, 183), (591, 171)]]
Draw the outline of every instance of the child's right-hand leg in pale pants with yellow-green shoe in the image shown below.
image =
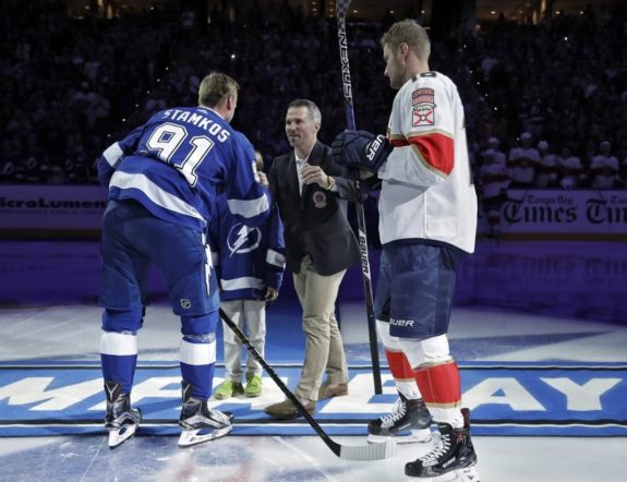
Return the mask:
[[(244, 300), (243, 311), (249, 329), (249, 340), (254, 349), (265, 357), (266, 348), (266, 302), (265, 300)], [(246, 357), (246, 388), (245, 397), (262, 395), (262, 365), (250, 353)]]

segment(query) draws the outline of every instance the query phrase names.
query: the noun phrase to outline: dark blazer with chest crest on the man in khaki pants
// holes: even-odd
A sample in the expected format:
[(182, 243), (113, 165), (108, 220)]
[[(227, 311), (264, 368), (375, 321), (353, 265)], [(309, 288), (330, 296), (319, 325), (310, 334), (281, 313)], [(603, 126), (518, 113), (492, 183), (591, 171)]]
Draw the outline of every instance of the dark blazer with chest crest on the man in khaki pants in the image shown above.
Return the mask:
[(288, 268), (299, 273), (302, 258), (309, 254), (316, 273), (329, 276), (360, 260), (359, 244), (347, 218), (347, 200), (357, 201), (359, 193), (350, 179), (342, 178), (346, 170), (334, 162), (330, 147), (316, 142), (308, 162), (333, 176), (338, 191), (303, 184), (301, 195), (293, 149), (273, 160), (268, 181), (284, 221)]

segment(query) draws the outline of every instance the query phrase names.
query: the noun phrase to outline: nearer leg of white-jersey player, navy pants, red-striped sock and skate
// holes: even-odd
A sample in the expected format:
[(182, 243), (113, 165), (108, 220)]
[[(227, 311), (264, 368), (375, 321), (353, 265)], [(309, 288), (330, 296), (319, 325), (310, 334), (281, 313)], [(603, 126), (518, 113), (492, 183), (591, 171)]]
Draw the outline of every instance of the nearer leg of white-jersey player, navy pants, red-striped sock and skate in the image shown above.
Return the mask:
[(477, 463), (468, 411), (460, 411), (459, 370), (446, 333), (458, 255), (442, 246), (399, 248), (390, 305), (390, 335), (398, 336), (439, 436), (431, 453), (406, 465), (410, 477), (437, 477)]

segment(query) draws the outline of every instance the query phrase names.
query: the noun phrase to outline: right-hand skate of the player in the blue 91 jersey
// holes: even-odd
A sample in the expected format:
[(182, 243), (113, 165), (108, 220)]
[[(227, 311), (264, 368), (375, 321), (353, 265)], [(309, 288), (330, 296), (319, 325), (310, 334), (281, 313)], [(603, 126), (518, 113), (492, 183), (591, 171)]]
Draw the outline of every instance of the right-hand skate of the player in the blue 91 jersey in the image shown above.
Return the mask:
[(180, 447), (224, 437), (233, 429), (232, 413), (209, 408), (206, 400), (192, 397), (192, 385), (183, 382), (183, 407), (179, 419), (179, 425), (183, 429), (179, 437)]

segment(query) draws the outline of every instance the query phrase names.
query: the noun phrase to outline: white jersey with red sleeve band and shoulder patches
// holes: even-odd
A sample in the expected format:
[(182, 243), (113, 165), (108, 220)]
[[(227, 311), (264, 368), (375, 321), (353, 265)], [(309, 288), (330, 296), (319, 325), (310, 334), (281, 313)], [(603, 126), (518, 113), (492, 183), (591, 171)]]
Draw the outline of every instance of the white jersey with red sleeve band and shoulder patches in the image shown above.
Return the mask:
[(453, 81), (437, 72), (409, 80), (394, 99), (388, 138), (395, 148), (378, 171), (382, 242), (429, 240), (472, 253), (477, 194)]

